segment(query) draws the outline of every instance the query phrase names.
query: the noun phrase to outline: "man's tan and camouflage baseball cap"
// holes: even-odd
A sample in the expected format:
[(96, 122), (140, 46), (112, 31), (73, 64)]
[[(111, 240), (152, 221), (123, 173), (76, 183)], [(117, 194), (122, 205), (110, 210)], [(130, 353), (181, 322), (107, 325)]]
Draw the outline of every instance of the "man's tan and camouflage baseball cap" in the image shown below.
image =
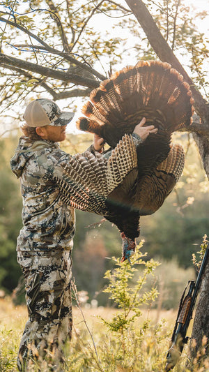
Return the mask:
[(74, 112), (61, 111), (54, 101), (39, 98), (27, 105), (24, 120), (28, 126), (65, 126), (74, 117)]

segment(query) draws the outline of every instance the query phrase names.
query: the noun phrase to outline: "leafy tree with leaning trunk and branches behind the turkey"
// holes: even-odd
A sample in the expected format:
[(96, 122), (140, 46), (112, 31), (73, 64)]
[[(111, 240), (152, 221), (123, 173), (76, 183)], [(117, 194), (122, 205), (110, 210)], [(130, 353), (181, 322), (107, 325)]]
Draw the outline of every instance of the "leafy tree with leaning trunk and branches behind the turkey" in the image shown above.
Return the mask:
[[(190, 85), (201, 123), (196, 119), (189, 131), (194, 135), (203, 168), (209, 177), (208, 83), (203, 70), (208, 46), (207, 40), (203, 39), (203, 34), (196, 30), (188, 16), (189, 8), (185, 7), (184, 1), (95, 0), (78, 3), (66, 0), (57, 5), (51, 0), (23, 1), (20, 4), (8, 0), (1, 4), (2, 111), (43, 92), (55, 101), (88, 96), (91, 89), (98, 87), (100, 81), (111, 73), (116, 62), (123, 63), (128, 55), (132, 56), (132, 61), (140, 57), (153, 59), (157, 55), (182, 73)], [(95, 20), (99, 15), (100, 29), (102, 26), (104, 32), (102, 38), (99, 37), (100, 29), (95, 29)], [(114, 23), (120, 38), (110, 36), (108, 27), (107, 31), (104, 30), (104, 15), (116, 17), (117, 22)], [(204, 12), (199, 14), (200, 19), (205, 16)], [(132, 31), (133, 42), (138, 39), (131, 50), (125, 37), (121, 37), (121, 30), (127, 24)], [(139, 24), (146, 38), (144, 34), (139, 34)], [(189, 75), (178, 60), (183, 61), (185, 54), (189, 60), (185, 63)], [(13, 115), (18, 119), (17, 113)], [(206, 288), (208, 278), (209, 265), (203, 288)], [(193, 334), (198, 339), (198, 345), (203, 333), (209, 336), (209, 323), (206, 322), (208, 301), (208, 292), (202, 290), (196, 311), (199, 333), (195, 331)]]

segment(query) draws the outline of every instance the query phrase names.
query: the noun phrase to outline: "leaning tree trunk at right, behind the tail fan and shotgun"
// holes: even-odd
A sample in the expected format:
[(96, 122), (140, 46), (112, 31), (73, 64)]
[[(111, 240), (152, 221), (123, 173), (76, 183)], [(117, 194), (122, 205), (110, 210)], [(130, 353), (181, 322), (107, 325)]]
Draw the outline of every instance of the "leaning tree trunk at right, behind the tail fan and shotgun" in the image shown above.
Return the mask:
[[(205, 134), (194, 133), (194, 140), (199, 149), (201, 159), (203, 162), (203, 168), (206, 171), (207, 177), (209, 179), (209, 105), (207, 101), (201, 96), (201, 93), (194, 87), (194, 83), (190, 77), (185, 72), (183, 66), (173, 54), (171, 47), (169, 47), (167, 41), (163, 38), (157, 24), (153, 20), (153, 17), (148, 12), (148, 9), (141, 0), (125, 0), (127, 5), (132, 10), (132, 13), (137, 18), (137, 21), (141, 25), (142, 29), (150, 42), (150, 45), (155, 50), (157, 56), (161, 61), (168, 62), (181, 73), (190, 85), (194, 97), (194, 107), (196, 112), (201, 117), (206, 129), (208, 128), (208, 133)], [(201, 126), (201, 124), (200, 124)], [(194, 326), (192, 329), (192, 338), (196, 340), (196, 350), (201, 348), (202, 337), (206, 335), (209, 339), (209, 263), (206, 266), (206, 272), (203, 276), (203, 281), (201, 284), (199, 303), (196, 308), (196, 315), (194, 318)], [(190, 345), (191, 355), (194, 356), (192, 352), (192, 343)], [(207, 350), (208, 352), (208, 350)], [(209, 352), (208, 352), (209, 353)]]

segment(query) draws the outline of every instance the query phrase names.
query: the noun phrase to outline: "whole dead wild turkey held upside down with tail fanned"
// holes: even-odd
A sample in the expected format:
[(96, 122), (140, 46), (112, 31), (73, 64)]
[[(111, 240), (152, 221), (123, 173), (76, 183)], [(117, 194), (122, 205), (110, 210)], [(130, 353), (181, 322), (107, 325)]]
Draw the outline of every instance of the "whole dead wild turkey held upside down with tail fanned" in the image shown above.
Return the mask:
[[(171, 133), (191, 124), (192, 104), (189, 85), (169, 64), (139, 61), (101, 82), (82, 108), (86, 117), (77, 127), (100, 135), (114, 150), (108, 160), (78, 155), (56, 181), (66, 203), (118, 227), (122, 261), (134, 253), (140, 216), (162, 206), (183, 171), (184, 151), (170, 144)], [(143, 117), (158, 131), (137, 146), (136, 160), (130, 133)]]

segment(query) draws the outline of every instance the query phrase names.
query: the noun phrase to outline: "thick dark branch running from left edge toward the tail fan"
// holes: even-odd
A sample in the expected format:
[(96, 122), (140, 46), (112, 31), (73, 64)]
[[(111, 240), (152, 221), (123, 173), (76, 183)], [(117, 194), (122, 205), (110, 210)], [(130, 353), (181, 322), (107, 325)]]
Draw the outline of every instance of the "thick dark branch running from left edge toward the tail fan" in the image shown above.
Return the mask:
[(59, 70), (53, 70), (52, 68), (47, 68), (44, 66), (39, 66), (37, 64), (32, 64), (28, 61), (22, 61), (22, 59), (17, 59), (15, 57), (9, 57), (6, 54), (0, 53), (0, 64), (6, 64), (7, 66), (15, 66), (22, 68), (23, 70), (32, 71), (33, 73), (38, 73), (39, 75), (45, 77), (52, 77), (56, 80), (62, 80), (64, 82), (72, 82), (77, 85), (82, 85), (88, 88), (97, 88), (99, 82), (88, 79), (87, 77), (80, 77), (72, 73), (63, 73)]

